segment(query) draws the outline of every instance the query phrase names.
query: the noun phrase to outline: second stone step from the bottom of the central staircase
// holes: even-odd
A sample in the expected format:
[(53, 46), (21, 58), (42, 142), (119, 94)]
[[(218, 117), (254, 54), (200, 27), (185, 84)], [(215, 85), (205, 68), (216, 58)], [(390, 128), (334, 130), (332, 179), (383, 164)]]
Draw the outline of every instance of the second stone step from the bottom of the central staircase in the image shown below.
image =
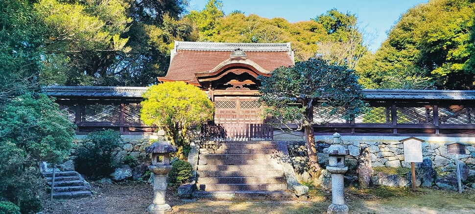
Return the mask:
[(255, 190), (255, 191), (275, 191), (287, 190), (287, 184), (200, 184), (199, 190), (204, 191), (225, 191), (225, 190)]

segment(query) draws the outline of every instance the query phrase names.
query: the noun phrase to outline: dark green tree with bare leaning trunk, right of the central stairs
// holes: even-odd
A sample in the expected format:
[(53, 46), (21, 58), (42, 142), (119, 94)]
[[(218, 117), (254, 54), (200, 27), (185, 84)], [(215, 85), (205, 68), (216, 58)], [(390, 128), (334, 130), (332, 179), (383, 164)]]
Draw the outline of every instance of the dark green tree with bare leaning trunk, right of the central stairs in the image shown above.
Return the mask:
[[(281, 67), (271, 77), (260, 76), (261, 102), (267, 106), (266, 116), (277, 119), (278, 125), (294, 123), (304, 129), (309, 166), (318, 173), (313, 124), (329, 119), (350, 118), (362, 112), (362, 87), (355, 72), (345, 66), (321, 59), (297, 62), (293, 67)], [(318, 114), (318, 118), (314, 118)]]

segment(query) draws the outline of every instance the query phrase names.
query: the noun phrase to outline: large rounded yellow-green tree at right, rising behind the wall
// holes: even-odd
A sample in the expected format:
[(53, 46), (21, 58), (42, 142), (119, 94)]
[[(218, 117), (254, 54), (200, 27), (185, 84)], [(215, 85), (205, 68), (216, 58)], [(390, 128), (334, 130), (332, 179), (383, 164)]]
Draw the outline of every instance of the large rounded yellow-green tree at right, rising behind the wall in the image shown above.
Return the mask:
[(475, 2), (430, 0), (409, 9), (356, 67), (368, 88), (474, 89)]

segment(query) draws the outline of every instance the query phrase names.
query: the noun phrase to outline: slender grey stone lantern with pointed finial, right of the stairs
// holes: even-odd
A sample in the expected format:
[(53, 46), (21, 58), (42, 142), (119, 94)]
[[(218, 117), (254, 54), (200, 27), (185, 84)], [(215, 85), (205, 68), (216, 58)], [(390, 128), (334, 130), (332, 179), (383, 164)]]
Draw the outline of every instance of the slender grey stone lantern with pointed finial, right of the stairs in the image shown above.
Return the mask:
[(333, 145), (323, 150), (328, 154), (327, 170), (332, 173), (332, 204), (328, 206), (328, 214), (348, 214), (349, 208), (345, 204), (345, 186), (343, 174), (348, 170), (345, 166), (345, 155), (350, 151), (341, 145), (340, 134), (333, 134)]

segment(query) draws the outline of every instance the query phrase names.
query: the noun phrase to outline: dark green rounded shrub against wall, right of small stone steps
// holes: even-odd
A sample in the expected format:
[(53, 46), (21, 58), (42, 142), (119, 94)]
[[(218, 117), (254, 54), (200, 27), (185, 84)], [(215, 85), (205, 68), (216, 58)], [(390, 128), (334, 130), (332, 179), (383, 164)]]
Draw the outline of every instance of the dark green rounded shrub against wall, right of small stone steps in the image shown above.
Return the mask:
[(112, 152), (122, 141), (112, 129), (89, 133), (76, 149), (75, 169), (91, 179), (108, 176), (114, 171)]

